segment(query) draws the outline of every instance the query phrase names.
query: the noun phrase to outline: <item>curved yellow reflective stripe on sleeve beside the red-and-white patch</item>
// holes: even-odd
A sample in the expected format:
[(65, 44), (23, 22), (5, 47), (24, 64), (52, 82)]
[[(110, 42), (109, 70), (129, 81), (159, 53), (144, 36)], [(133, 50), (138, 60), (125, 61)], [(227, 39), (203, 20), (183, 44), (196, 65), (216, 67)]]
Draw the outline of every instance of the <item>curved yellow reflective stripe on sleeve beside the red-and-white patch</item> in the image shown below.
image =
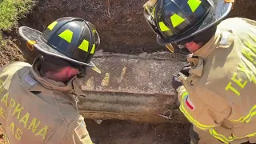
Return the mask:
[(185, 117), (192, 122), (195, 126), (197, 126), (199, 129), (201, 130), (207, 130), (210, 129), (214, 126), (207, 126), (207, 125), (202, 125), (201, 123), (199, 123), (198, 121), (196, 121), (185, 109), (184, 107), (184, 103), (183, 100), (186, 97), (186, 95), (189, 94), (188, 92), (185, 92), (184, 94), (182, 94), (182, 102), (181, 105), (179, 106), (179, 109), (182, 111), (182, 113), (185, 115)]

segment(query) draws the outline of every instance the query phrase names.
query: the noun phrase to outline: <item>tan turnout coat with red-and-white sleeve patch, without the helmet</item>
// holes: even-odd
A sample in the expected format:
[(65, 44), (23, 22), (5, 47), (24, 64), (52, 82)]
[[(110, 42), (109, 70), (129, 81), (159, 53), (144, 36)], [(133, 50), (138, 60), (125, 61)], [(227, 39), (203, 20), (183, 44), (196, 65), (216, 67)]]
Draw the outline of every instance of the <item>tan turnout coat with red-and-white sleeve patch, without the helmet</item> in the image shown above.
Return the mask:
[(202, 142), (256, 143), (256, 27), (251, 24), (256, 26), (242, 18), (223, 21), (188, 58), (190, 77), (179, 77), (180, 110)]

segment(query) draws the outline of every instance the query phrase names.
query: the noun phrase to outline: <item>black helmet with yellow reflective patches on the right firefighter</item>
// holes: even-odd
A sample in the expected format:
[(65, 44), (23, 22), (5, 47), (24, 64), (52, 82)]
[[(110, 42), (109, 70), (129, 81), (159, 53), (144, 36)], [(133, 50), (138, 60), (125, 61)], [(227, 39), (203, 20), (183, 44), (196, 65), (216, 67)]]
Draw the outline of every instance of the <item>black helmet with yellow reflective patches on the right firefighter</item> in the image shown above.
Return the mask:
[(144, 17), (160, 45), (191, 38), (216, 26), (230, 13), (234, 0), (150, 0)]

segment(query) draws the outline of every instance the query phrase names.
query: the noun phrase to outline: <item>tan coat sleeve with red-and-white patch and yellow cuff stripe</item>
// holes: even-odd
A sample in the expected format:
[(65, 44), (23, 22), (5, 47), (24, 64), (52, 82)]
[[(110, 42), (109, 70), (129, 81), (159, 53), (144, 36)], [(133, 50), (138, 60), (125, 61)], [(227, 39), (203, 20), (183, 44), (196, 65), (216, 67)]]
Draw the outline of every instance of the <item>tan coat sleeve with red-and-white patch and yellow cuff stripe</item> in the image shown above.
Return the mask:
[(188, 93), (184, 86), (180, 86), (178, 100), (179, 109), (200, 130), (209, 130), (221, 125), (231, 111), (230, 106), (210, 90), (192, 90)]

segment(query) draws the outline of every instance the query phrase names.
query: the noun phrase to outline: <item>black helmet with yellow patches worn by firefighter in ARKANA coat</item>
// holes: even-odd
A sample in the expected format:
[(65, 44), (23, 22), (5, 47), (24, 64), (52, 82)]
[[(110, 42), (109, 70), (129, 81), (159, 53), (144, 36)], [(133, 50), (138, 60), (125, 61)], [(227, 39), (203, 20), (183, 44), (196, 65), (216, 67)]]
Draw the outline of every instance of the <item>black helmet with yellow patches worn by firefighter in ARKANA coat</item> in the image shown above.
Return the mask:
[(96, 28), (82, 18), (59, 18), (41, 33), (22, 26), (19, 33), (42, 54), (62, 58), (82, 66), (94, 66), (90, 62), (100, 44)]

